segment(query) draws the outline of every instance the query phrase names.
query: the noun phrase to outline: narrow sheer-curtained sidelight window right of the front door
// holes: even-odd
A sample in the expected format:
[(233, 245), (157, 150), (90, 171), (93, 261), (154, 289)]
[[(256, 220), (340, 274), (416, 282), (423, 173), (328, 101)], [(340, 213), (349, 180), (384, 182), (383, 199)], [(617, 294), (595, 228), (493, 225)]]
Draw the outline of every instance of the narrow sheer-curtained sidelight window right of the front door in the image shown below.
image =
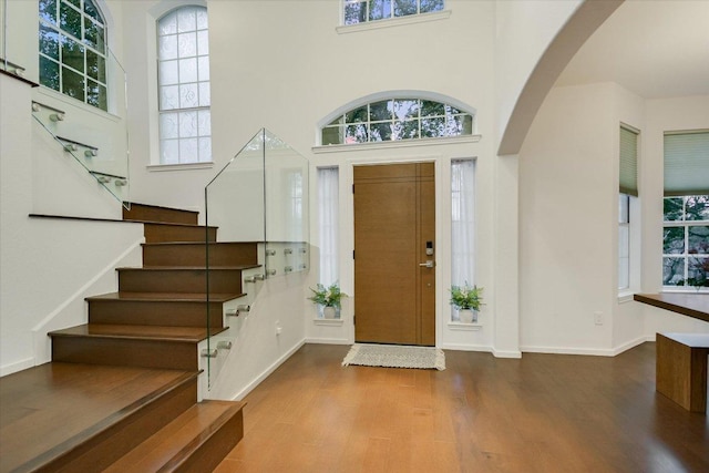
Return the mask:
[(451, 163), (451, 285), (475, 284), (475, 162)]

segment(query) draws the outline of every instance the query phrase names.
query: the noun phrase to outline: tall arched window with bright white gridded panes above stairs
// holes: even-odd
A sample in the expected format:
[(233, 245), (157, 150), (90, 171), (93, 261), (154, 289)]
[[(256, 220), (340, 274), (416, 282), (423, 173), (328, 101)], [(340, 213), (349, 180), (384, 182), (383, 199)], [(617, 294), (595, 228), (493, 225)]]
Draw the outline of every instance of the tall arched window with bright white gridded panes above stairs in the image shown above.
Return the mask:
[(157, 22), (161, 164), (212, 161), (207, 9), (183, 7)]

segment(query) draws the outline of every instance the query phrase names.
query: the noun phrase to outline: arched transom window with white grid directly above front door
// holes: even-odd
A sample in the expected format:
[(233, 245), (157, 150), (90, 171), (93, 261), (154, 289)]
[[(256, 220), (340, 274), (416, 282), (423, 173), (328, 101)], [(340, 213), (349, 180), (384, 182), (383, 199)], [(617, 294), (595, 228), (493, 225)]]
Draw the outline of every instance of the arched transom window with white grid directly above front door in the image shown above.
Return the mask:
[(322, 144), (354, 144), (473, 134), (473, 115), (424, 99), (371, 102), (322, 127)]

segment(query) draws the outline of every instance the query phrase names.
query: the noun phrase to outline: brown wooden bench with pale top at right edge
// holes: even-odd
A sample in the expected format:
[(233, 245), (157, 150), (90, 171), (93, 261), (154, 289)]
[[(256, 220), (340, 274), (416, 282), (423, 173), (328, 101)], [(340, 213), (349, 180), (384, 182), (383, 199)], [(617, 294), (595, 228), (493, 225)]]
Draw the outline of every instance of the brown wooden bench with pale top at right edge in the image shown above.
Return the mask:
[(709, 333), (657, 333), (656, 389), (691, 412), (707, 412)]

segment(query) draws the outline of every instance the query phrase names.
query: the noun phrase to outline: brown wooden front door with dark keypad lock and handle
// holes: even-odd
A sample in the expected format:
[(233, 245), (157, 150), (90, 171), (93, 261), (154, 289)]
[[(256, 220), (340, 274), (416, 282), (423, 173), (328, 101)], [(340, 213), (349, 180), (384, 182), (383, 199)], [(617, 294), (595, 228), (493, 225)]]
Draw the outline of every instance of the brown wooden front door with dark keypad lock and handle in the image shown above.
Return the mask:
[(356, 166), (353, 192), (354, 339), (434, 346), (433, 163)]

